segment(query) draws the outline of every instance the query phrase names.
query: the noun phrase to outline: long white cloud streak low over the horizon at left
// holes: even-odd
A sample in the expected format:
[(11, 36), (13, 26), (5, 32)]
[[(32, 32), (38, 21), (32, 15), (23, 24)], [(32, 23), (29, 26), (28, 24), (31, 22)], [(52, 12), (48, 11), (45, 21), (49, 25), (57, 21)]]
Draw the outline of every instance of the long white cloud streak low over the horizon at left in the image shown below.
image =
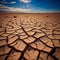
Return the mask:
[(7, 7), (0, 4), (0, 11), (28, 13), (31, 11), (31, 9)]

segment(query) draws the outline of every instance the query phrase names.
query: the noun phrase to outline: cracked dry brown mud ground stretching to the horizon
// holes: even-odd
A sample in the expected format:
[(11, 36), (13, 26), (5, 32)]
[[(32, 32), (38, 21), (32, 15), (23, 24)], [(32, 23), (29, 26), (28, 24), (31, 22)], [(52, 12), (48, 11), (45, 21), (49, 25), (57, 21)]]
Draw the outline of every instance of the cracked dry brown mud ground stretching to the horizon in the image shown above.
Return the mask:
[(0, 14), (0, 60), (60, 60), (60, 14)]

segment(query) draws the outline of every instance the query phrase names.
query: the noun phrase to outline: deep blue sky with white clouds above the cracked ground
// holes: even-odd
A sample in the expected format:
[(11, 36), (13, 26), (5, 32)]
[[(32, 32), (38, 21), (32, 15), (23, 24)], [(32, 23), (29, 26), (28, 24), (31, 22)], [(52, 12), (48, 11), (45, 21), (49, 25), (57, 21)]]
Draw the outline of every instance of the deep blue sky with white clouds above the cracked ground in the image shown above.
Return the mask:
[(60, 0), (0, 0), (0, 11), (60, 13)]

